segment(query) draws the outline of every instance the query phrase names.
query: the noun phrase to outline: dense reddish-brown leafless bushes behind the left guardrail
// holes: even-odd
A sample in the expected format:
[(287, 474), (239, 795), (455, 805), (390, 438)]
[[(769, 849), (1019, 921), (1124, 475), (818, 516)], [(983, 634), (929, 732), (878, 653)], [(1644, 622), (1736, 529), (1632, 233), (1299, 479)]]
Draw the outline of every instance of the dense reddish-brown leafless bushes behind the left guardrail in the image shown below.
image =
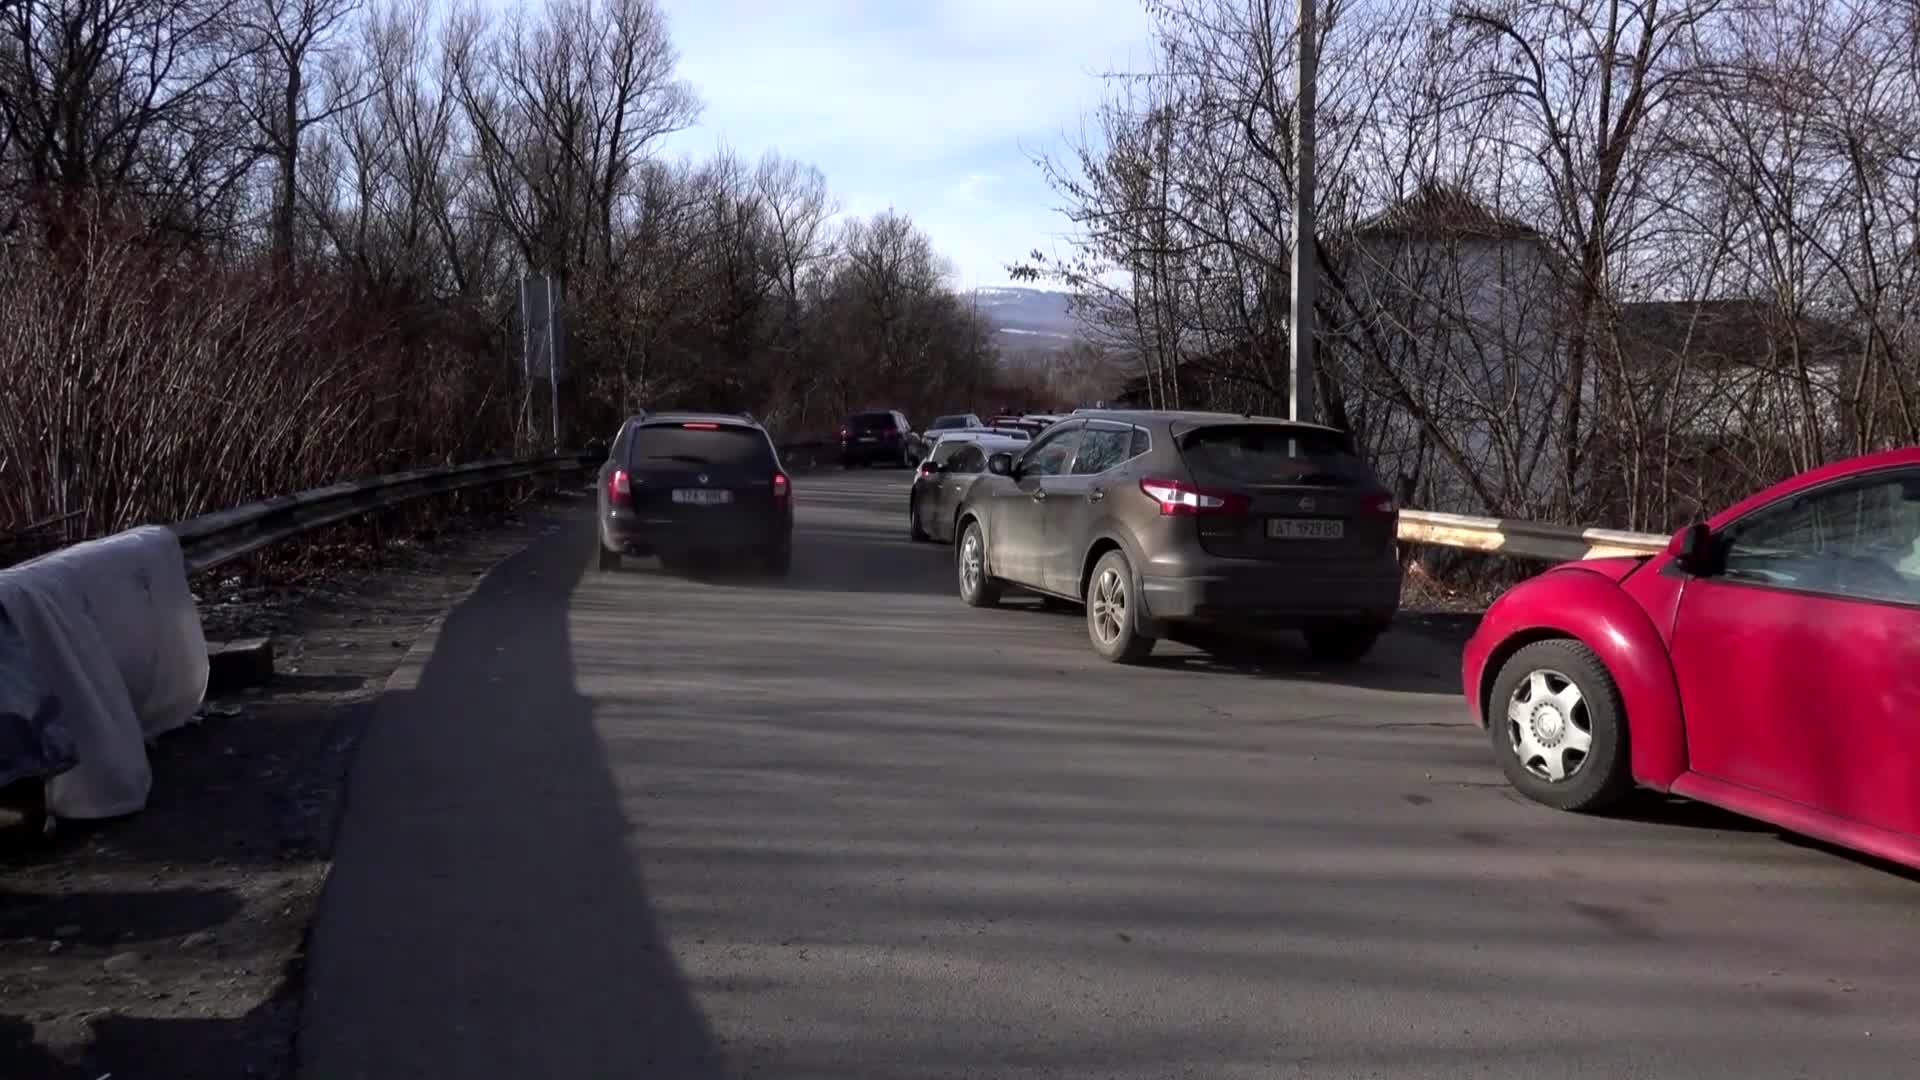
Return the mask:
[(0, 258), (0, 530), (63, 538), (511, 444), (455, 311), (156, 246), (94, 213)]

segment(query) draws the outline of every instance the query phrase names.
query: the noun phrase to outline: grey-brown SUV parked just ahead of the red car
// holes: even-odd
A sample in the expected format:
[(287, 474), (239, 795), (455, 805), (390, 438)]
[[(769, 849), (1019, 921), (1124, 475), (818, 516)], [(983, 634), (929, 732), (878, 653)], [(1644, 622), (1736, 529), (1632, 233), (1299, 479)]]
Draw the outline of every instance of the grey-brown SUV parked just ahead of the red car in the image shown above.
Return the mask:
[(1334, 429), (1089, 411), (987, 473), (954, 519), (960, 598), (1085, 603), (1112, 661), (1196, 623), (1300, 628), (1315, 657), (1354, 661), (1400, 607), (1400, 511)]

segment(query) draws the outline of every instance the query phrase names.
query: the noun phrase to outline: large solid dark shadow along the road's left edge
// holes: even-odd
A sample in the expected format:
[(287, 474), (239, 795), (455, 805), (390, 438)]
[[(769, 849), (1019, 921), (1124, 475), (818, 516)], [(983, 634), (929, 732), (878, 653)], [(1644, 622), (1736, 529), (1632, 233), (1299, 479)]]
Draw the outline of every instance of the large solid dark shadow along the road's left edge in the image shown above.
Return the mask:
[(495, 569), (380, 701), (313, 930), (301, 1074), (720, 1074), (574, 680), (589, 550)]

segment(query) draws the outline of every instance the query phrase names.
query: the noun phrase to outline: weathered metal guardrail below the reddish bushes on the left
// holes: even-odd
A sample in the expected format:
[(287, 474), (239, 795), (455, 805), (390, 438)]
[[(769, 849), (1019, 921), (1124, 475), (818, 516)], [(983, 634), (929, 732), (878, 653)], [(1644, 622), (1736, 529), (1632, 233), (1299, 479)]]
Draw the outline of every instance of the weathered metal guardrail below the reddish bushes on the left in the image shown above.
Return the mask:
[(555, 454), (518, 461), (476, 461), (451, 469), (415, 469), (367, 480), (328, 484), (294, 496), (236, 505), (171, 525), (186, 555), (186, 573), (202, 573), (267, 544), (278, 544), (311, 528), (399, 505), (505, 480), (561, 477), (597, 467), (605, 457), (591, 452)]

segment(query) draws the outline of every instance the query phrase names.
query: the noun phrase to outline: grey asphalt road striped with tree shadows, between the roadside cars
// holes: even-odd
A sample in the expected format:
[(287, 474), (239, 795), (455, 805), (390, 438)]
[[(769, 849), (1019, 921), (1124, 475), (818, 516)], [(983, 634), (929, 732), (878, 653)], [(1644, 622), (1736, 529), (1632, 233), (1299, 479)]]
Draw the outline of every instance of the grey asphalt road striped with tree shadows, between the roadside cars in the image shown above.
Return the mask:
[(1914, 1076), (1920, 882), (1511, 796), (1453, 659), (1315, 671), (954, 598), (899, 471), (787, 582), (492, 573), (361, 749), (324, 1080)]

